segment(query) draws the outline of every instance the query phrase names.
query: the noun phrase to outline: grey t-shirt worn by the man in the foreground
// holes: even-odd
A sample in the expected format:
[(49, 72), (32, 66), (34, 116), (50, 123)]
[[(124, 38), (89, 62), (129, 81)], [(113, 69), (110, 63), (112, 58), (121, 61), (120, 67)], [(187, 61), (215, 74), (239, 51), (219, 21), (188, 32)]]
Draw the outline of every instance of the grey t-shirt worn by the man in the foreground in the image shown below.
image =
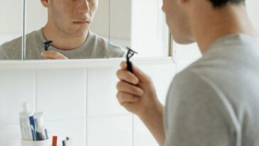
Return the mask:
[(176, 75), (166, 146), (259, 145), (259, 38), (225, 36)]

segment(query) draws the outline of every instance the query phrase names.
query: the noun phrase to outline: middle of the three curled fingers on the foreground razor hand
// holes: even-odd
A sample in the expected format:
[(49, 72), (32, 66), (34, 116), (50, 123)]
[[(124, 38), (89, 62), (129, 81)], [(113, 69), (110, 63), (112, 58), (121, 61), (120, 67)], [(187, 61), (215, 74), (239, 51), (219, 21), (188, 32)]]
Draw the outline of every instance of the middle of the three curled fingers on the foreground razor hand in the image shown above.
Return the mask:
[(124, 81), (117, 83), (117, 90), (118, 92), (129, 93), (136, 96), (141, 96), (144, 93), (141, 88), (137, 87), (136, 85), (130, 85)]

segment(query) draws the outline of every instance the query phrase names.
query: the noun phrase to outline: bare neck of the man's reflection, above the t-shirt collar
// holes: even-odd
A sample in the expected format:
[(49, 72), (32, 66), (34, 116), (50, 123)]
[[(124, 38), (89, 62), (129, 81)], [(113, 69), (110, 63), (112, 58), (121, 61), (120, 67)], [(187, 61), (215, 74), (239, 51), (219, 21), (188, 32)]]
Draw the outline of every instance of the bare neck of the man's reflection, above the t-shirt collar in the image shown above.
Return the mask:
[(65, 51), (73, 50), (82, 46), (89, 33), (89, 31), (87, 31), (87, 33), (84, 33), (81, 36), (72, 36), (68, 33), (59, 31), (58, 28), (54, 28), (49, 24), (46, 24), (46, 26), (42, 28), (42, 31), (46, 40), (54, 41), (51, 46)]

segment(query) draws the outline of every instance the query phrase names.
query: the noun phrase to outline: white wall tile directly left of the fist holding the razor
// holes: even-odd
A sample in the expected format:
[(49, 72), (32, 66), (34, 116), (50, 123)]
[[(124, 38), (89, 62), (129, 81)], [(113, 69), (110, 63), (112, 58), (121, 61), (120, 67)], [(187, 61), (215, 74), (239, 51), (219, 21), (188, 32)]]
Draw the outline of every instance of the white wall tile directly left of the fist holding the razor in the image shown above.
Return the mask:
[(117, 100), (117, 68), (88, 69), (88, 111), (90, 117), (130, 115)]

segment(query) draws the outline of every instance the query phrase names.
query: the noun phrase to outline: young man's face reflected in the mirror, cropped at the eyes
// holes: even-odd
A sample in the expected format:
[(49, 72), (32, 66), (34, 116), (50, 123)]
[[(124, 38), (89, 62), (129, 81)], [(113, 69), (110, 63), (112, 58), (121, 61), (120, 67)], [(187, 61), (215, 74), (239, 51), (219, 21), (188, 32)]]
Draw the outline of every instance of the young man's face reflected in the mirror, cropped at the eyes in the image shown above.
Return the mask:
[(98, 6), (98, 0), (48, 1), (48, 21), (70, 36), (82, 36), (87, 32)]

